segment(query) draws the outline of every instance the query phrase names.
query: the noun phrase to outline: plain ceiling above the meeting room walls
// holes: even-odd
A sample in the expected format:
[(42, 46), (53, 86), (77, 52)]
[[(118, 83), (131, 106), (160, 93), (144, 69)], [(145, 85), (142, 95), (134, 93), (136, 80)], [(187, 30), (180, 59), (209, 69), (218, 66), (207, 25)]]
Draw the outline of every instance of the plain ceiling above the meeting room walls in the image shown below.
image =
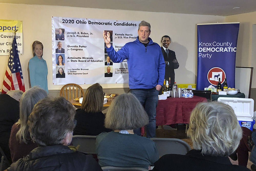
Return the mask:
[(256, 0), (0, 0), (0, 2), (216, 16), (256, 11)]

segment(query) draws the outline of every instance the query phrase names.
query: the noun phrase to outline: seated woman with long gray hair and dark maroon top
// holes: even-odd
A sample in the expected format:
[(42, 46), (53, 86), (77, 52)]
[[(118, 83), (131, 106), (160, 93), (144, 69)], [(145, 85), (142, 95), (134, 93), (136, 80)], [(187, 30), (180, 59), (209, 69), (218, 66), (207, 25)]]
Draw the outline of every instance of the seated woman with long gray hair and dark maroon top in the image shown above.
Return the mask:
[(47, 92), (37, 86), (28, 89), (21, 96), (19, 120), (13, 124), (9, 139), (12, 162), (16, 162), (37, 147), (29, 136), (27, 121), (34, 105), (46, 96)]

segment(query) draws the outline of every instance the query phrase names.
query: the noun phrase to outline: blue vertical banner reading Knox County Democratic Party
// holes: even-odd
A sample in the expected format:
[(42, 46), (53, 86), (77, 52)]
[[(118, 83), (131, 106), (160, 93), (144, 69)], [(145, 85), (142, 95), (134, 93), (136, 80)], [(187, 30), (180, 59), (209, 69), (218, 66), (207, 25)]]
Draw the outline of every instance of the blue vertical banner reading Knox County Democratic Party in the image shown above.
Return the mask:
[(238, 31), (239, 22), (197, 25), (197, 90), (216, 87), (219, 78), (235, 87)]

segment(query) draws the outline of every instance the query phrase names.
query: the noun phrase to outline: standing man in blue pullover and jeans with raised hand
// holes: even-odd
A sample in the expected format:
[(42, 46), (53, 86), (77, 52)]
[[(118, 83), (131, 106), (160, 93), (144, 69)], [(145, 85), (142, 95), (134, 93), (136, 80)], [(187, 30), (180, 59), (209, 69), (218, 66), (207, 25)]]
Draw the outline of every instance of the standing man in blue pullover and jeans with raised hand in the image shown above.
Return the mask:
[[(156, 137), (156, 106), (158, 93), (164, 83), (165, 62), (160, 46), (154, 43), (149, 35), (150, 23), (141, 21), (138, 27), (138, 37), (135, 41), (126, 43), (118, 52), (110, 44), (110, 37), (103, 31), (106, 51), (114, 63), (127, 59), (129, 71), (129, 87), (137, 97), (149, 117), (146, 127), (147, 137)], [(140, 135), (140, 128), (134, 129)]]

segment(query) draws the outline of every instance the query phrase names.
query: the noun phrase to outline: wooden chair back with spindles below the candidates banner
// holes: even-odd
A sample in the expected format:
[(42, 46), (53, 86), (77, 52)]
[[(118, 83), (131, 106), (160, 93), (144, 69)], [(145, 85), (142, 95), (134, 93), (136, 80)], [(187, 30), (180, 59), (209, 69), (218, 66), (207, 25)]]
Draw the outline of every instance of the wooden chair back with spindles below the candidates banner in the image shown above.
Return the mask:
[(65, 97), (67, 100), (82, 97), (84, 95), (83, 89), (78, 84), (66, 84), (60, 90), (60, 96)]

